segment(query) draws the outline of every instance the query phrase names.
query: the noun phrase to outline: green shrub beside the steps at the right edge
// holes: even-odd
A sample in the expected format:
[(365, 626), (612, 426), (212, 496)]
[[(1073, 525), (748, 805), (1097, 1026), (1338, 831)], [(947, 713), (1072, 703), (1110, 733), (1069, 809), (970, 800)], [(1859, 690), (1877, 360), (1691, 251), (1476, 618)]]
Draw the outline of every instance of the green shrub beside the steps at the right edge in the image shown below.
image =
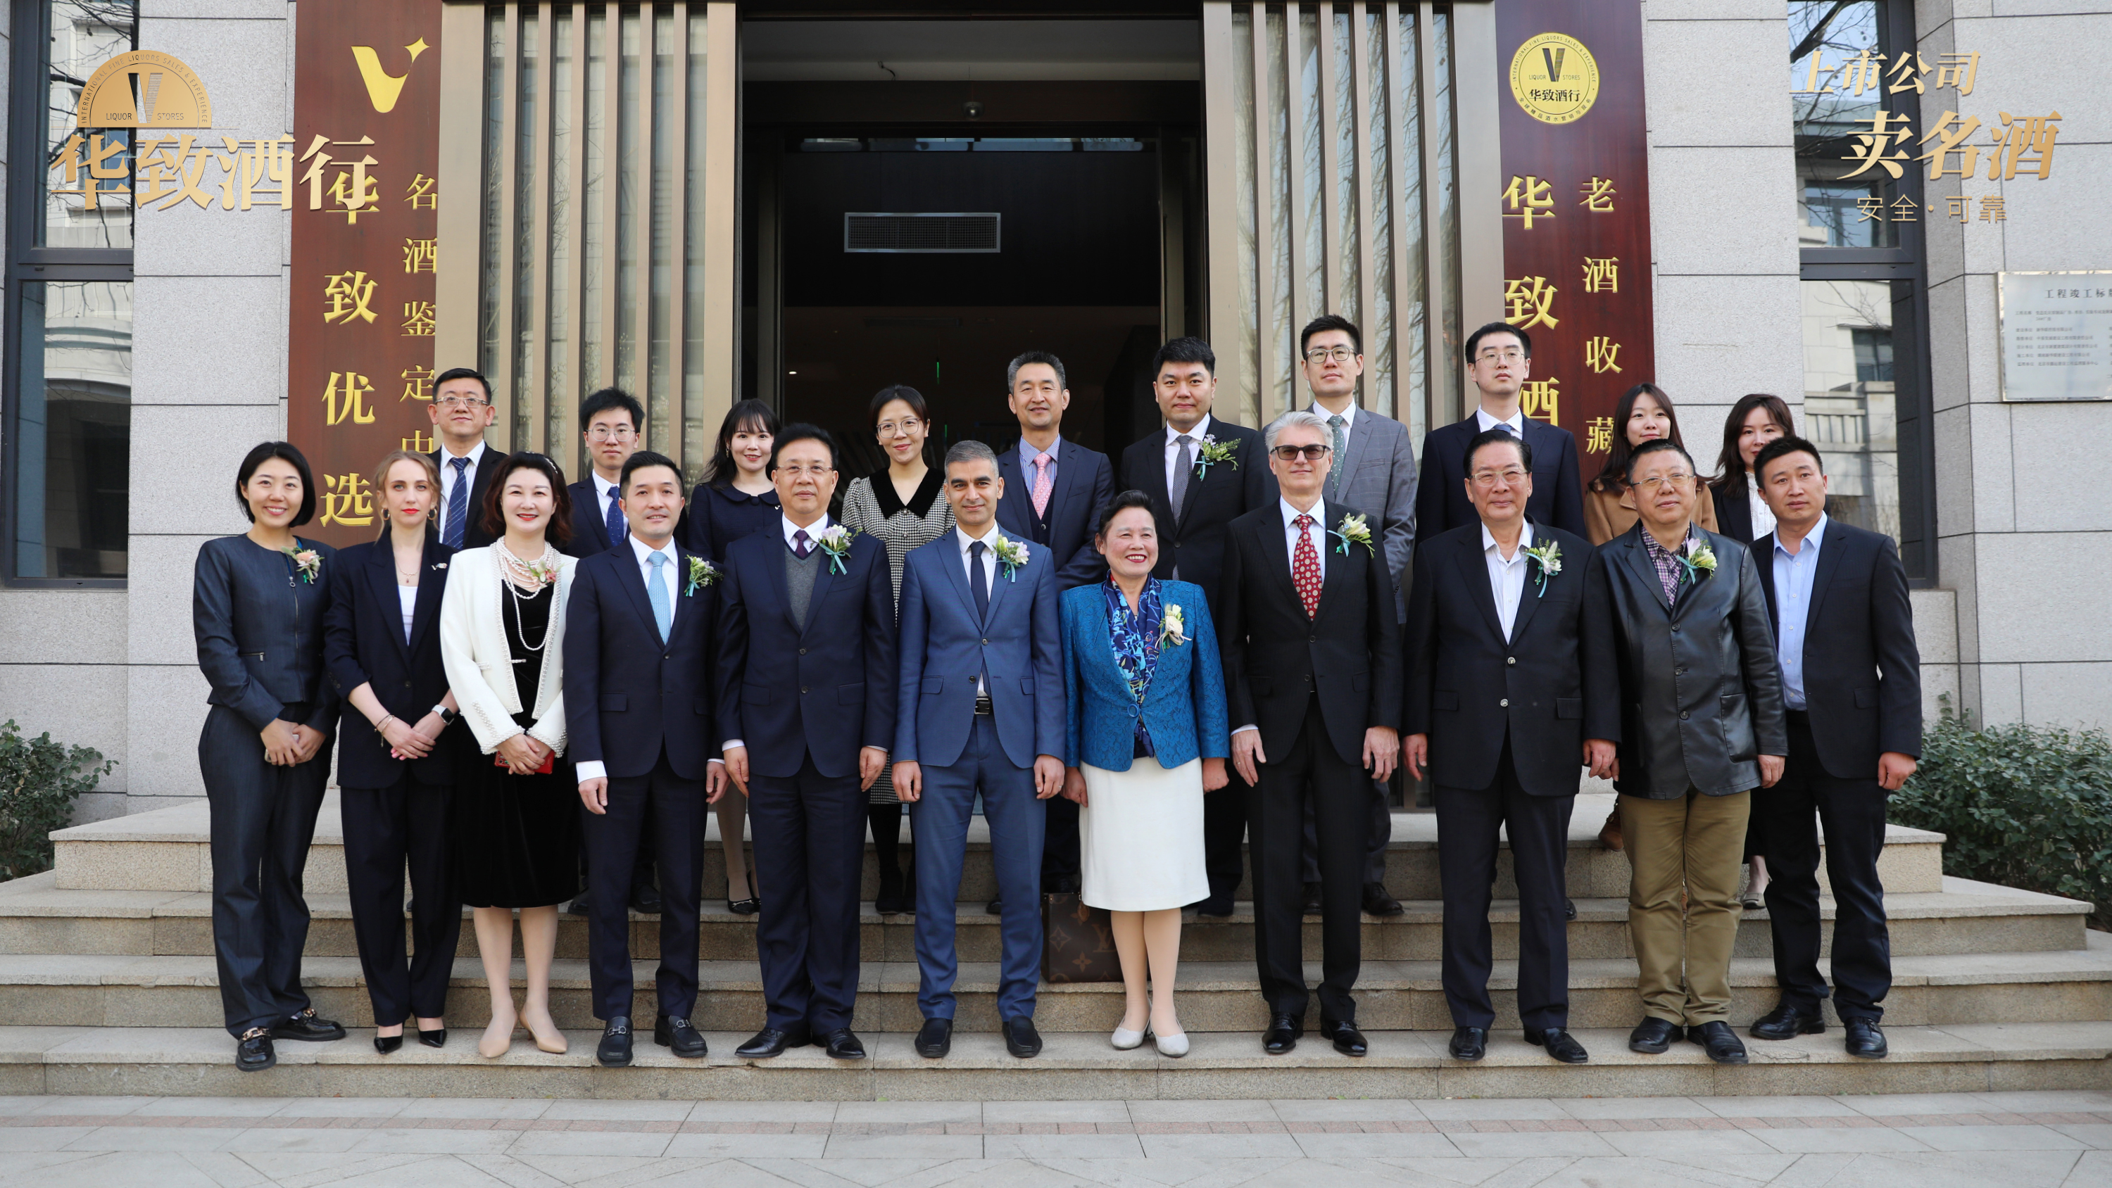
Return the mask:
[(1943, 874), (2097, 905), (2112, 926), (2112, 739), (1992, 726), (1954, 713), (1924, 732), (1922, 766), (1890, 819), (1945, 833)]

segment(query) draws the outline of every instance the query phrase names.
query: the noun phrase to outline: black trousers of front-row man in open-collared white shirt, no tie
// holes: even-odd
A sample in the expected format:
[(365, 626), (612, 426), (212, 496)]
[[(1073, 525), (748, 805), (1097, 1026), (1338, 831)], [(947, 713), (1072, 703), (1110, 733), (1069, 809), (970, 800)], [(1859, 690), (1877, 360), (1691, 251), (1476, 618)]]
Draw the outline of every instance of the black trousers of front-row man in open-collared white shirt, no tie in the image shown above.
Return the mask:
[(1497, 829), (1510, 836), (1519, 878), (1519, 1021), (1531, 1030), (1569, 1026), (1569, 810), (1576, 796), (1527, 796), (1510, 762), (1510, 739), (1483, 789), (1436, 789), (1438, 880), (1445, 888), (1445, 1004), (1455, 1028), (1491, 1028), (1489, 899)]

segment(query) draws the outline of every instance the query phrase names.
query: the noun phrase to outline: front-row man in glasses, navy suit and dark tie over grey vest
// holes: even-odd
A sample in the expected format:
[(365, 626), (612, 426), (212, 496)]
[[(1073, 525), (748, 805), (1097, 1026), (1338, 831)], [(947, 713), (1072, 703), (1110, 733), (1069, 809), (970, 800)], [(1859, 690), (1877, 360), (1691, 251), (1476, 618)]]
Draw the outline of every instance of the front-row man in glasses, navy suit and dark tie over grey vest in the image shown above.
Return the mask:
[(895, 743), (895, 591), (887, 547), (828, 521), (836, 443), (790, 424), (771, 443), (781, 532), (727, 547), (718, 595), (718, 736), (748, 796), (771, 897), (756, 920), (767, 1019), (735, 1055), (809, 1042), (864, 1059), (857, 882), (866, 789)]

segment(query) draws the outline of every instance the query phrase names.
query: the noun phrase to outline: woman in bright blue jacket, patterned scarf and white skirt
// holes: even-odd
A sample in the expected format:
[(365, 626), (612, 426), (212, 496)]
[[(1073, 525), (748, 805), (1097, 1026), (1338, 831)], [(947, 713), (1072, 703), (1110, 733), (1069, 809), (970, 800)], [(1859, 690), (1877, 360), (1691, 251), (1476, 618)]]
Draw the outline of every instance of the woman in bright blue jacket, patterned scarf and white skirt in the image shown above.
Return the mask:
[(1187, 1055), (1174, 969), (1181, 907), (1210, 895), (1202, 798), (1225, 787), (1231, 753), (1225, 673), (1202, 587), (1151, 576), (1159, 540), (1143, 492), (1107, 504), (1096, 547), (1107, 580), (1062, 595), (1064, 796), (1079, 804), (1083, 901), (1109, 912), (1121, 954), (1113, 1042), (1151, 1036), (1159, 1055)]

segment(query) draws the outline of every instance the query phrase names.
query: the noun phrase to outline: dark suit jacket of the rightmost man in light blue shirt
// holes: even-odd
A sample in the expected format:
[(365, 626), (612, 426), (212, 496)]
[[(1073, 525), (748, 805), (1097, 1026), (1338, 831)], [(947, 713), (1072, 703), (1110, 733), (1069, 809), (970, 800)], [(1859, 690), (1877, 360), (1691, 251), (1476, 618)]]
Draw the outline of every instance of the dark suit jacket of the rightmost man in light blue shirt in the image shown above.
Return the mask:
[[(1774, 534), (1753, 542), (1774, 606)], [(1835, 779), (1878, 779), (1878, 755), (1922, 755), (1922, 652), (1907, 570), (1890, 536), (1827, 517), (1804, 614), (1804, 707), (1818, 762)]]

